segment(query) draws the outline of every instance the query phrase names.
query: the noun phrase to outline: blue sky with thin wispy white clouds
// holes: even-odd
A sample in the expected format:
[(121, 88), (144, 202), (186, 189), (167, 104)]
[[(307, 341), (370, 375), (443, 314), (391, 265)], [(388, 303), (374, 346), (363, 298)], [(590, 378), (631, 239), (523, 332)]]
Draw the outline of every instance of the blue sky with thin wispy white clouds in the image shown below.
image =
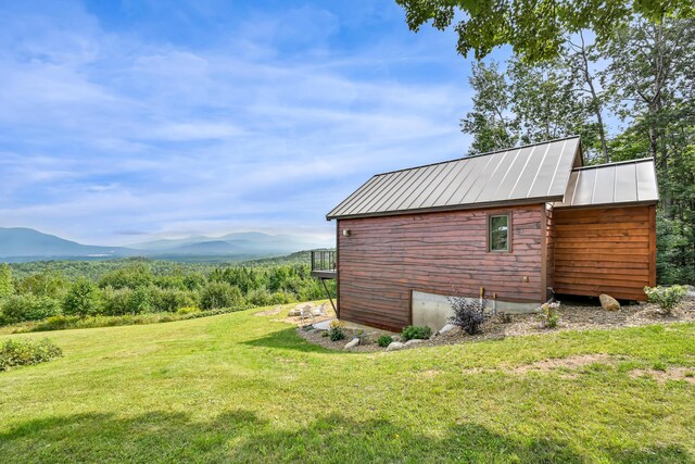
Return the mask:
[(0, 227), (316, 240), (371, 175), (463, 156), (470, 60), (393, 1), (0, 3)]

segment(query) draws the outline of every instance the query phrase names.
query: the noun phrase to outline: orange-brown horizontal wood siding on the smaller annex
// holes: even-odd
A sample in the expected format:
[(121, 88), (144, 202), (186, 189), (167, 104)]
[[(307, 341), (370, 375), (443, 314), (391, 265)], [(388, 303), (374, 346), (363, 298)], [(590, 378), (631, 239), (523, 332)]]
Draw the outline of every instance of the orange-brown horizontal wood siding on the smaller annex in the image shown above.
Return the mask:
[(556, 209), (556, 293), (642, 301), (656, 285), (656, 206)]

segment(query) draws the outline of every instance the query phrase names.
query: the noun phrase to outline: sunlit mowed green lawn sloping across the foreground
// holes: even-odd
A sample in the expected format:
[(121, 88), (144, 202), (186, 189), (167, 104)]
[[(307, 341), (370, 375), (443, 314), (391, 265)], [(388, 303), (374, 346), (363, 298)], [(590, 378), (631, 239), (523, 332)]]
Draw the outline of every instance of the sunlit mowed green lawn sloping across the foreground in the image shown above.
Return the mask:
[[(693, 324), (351, 353), (257, 311), (51, 333), (63, 358), (0, 373), (2, 461), (695, 461), (695, 387), (630, 376), (695, 367)], [(514, 373), (592, 353), (618, 361)]]

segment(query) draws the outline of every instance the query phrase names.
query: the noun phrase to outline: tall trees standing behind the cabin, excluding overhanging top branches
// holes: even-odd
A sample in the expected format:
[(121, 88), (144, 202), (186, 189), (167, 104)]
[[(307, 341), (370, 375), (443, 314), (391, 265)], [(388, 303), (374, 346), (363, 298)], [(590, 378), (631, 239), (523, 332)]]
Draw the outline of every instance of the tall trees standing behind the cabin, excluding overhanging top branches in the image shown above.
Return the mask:
[(580, 135), (589, 164), (652, 156), (657, 276), (695, 281), (695, 20), (637, 18), (603, 43), (567, 36), (541, 62), (477, 61), (471, 153)]

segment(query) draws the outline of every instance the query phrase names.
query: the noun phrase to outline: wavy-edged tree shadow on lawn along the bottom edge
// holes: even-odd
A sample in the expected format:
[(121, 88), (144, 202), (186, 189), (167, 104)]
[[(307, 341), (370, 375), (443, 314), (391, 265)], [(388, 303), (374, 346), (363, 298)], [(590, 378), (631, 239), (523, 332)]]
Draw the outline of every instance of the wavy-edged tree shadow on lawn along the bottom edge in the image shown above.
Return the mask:
[(210, 422), (184, 413), (119, 418), (81, 414), (36, 419), (0, 434), (5, 462), (611, 462), (693, 463), (679, 446), (594, 450), (583, 454), (567, 442), (515, 439), (472, 423), (442, 436), (421, 434), (389, 421), (317, 417), (286, 430), (253, 412), (225, 412)]

